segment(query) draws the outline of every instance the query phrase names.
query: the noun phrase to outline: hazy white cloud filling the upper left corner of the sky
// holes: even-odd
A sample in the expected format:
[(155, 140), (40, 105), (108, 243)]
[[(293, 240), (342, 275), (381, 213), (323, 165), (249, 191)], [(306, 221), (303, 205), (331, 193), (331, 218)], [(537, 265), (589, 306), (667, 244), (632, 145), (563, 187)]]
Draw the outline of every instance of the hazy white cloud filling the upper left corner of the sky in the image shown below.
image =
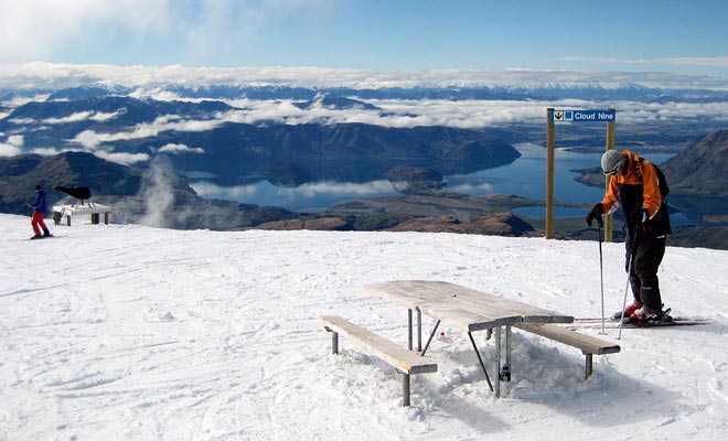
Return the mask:
[[(225, 57), (258, 32), (331, 0), (3, 0), (0, 63), (53, 57)], [(125, 49), (118, 49), (122, 41)], [(116, 46), (115, 46), (116, 45)], [(83, 49), (77, 49), (83, 47)], [(136, 51), (135, 51), (136, 49)], [(106, 56), (105, 56), (106, 57)]]

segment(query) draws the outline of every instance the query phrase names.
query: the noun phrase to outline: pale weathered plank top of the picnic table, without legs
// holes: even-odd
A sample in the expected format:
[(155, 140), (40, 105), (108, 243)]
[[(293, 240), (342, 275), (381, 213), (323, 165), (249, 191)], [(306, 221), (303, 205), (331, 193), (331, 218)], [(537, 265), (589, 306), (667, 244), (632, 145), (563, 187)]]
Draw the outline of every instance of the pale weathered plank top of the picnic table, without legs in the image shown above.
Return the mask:
[(446, 281), (394, 280), (363, 290), (468, 332), (517, 323), (574, 322), (570, 315)]

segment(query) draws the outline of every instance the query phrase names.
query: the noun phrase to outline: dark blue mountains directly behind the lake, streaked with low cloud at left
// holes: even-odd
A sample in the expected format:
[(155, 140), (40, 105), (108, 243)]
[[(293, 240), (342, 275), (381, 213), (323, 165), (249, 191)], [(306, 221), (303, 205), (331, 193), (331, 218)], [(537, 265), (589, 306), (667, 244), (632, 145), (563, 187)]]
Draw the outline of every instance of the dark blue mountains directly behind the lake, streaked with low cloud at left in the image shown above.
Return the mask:
[[(317, 105), (373, 108), (341, 97), (313, 97), (300, 104), (304, 108)], [(232, 110), (222, 101), (119, 96), (32, 101), (0, 120), (0, 132), (22, 133), (24, 151), (83, 149), (85, 144), (148, 159), (163, 153), (165, 146), (179, 147), (168, 154), (175, 170), (203, 173), (225, 185), (261, 179), (295, 185), (323, 180), (366, 182), (383, 179), (399, 165), (431, 168), (442, 174), (469, 173), (506, 164), (520, 155), (489, 130), (215, 119)], [(103, 139), (103, 146), (96, 139)]]

